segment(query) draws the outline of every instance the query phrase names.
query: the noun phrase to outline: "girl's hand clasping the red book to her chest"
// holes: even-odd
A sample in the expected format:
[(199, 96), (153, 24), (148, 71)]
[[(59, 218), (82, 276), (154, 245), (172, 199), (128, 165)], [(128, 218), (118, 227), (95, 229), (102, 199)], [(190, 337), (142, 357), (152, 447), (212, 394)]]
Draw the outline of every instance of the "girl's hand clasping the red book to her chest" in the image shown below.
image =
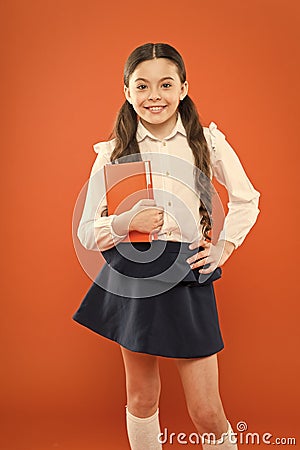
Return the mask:
[(138, 201), (130, 210), (133, 215), (129, 223), (129, 231), (140, 233), (157, 233), (164, 224), (164, 208), (157, 206), (152, 199)]

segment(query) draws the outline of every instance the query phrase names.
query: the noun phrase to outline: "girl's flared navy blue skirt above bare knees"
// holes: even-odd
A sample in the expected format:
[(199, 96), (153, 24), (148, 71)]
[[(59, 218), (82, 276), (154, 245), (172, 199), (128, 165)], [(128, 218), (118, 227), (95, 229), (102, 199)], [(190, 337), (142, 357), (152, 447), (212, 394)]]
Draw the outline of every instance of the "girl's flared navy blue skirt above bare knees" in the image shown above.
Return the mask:
[(73, 320), (134, 351), (169, 358), (209, 356), (224, 348), (213, 283), (222, 275), (190, 269), (189, 243), (121, 242)]

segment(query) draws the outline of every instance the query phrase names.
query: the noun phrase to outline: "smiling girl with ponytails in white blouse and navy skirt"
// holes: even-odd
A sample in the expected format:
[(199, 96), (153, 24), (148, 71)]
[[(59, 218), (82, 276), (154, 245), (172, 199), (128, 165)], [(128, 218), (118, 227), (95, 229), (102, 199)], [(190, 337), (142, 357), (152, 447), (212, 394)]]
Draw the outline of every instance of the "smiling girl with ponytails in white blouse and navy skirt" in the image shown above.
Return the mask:
[[(260, 194), (217, 125), (202, 127), (188, 88), (184, 62), (170, 45), (148, 43), (130, 54), (126, 100), (113, 138), (94, 146), (78, 227), (82, 245), (100, 250), (106, 262), (73, 319), (120, 345), (132, 450), (162, 448), (159, 356), (175, 362), (203, 448), (237, 449), (218, 388), (224, 344), (213, 282), (254, 225)], [(103, 167), (131, 157), (151, 160), (154, 200), (107, 215)], [(215, 245), (213, 176), (229, 196)], [(157, 239), (122, 242), (131, 230)]]

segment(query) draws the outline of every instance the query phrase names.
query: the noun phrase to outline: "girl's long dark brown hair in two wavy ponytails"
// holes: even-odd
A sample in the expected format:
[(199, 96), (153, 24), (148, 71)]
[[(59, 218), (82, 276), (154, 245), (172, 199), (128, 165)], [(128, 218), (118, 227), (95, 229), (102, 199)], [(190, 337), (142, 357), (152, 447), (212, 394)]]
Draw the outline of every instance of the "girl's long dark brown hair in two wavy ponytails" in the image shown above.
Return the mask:
[[(124, 67), (124, 85), (129, 86), (129, 78), (136, 67), (143, 61), (154, 58), (167, 58), (177, 66), (181, 83), (186, 81), (186, 70), (183, 59), (178, 51), (169, 44), (144, 44), (137, 47), (128, 57)], [(210, 183), (211, 161), (210, 153), (204, 137), (197, 108), (192, 99), (186, 95), (178, 105), (183, 126), (187, 133), (188, 144), (195, 160), (195, 185), (200, 197), (200, 215), (202, 215), (202, 233), (210, 240), (212, 214), (212, 190)], [(121, 156), (139, 154), (140, 149), (136, 140), (138, 118), (132, 105), (126, 100), (115, 122), (111, 138), (115, 138), (115, 148), (111, 154), (111, 162)], [(197, 170), (200, 169), (200, 170)], [(200, 174), (200, 175), (199, 175)]]

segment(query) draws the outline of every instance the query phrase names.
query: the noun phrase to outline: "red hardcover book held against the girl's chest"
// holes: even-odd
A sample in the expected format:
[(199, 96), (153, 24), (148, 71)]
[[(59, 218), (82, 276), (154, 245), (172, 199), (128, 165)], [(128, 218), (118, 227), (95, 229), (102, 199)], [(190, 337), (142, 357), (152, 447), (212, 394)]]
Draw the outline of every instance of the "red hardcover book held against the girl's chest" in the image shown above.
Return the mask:
[[(139, 200), (154, 199), (150, 161), (105, 164), (104, 180), (108, 215), (128, 211)], [(151, 242), (153, 239), (157, 239), (157, 233), (134, 230), (122, 242)]]

